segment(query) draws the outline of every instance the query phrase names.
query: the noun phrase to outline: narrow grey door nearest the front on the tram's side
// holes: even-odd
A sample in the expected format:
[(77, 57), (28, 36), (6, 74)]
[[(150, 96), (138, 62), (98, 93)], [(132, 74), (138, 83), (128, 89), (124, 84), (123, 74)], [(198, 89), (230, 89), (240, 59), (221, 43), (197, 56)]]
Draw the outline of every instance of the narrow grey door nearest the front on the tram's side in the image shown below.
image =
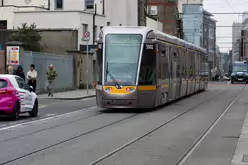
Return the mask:
[(169, 80), (169, 100), (177, 97), (177, 55), (176, 52), (170, 48), (169, 56), (170, 80)]

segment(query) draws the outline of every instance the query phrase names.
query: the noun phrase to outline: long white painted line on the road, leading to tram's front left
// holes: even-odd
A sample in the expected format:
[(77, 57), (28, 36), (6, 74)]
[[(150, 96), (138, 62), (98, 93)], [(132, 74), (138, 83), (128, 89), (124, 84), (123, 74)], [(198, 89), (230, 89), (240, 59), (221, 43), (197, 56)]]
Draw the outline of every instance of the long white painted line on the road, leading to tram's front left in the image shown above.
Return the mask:
[(44, 118), (44, 119), (38, 119), (38, 120), (34, 120), (34, 121), (29, 121), (29, 122), (24, 122), (24, 123), (20, 123), (20, 124), (15, 124), (15, 125), (11, 125), (11, 126), (0, 128), (0, 131), (9, 130), (9, 129), (12, 129), (12, 128), (21, 127), (21, 126), (28, 125), (28, 124), (38, 124), (38, 123), (41, 123), (41, 122), (44, 122), (44, 121), (47, 121), (47, 120), (61, 119), (63, 117), (67, 117), (67, 116), (70, 116), (70, 115), (73, 115), (73, 114), (76, 114), (76, 113), (79, 113), (79, 112), (83, 112), (83, 113), (89, 112), (89, 111), (91, 111), (92, 109), (95, 109), (95, 108), (97, 108), (97, 107), (95, 106), (95, 107), (80, 109), (80, 110), (77, 110), (77, 111), (68, 112), (68, 113), (64, 113), (64, 114), (61, 114), (61, 115), (47, 117), (47, 118)]

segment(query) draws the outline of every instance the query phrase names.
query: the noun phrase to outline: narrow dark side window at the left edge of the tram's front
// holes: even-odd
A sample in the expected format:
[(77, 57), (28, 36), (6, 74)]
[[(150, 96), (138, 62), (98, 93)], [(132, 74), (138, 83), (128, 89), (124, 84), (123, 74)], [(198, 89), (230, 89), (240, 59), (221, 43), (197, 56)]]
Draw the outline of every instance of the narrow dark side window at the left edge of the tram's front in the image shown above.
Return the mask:
[(96, 81), (98, 85), (102, 85), (102, 63), (103, 63), (103, 44), (98, 44), (96, 60), (97, 60), (97, 67), (96, 67)]

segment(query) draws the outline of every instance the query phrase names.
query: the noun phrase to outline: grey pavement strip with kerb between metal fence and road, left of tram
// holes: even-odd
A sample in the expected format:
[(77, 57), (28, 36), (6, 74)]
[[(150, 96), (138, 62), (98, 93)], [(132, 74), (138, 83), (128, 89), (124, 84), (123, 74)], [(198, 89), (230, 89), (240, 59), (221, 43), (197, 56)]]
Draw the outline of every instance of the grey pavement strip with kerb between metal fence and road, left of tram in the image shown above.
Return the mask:
[(95, 97), (96, 92), (95, 89), (87, 90), (74, 90), (74, 91), (66, 91), (66, 92), (57, 92), (54, 93), (53, 97), (48, 97), (48, 94), (41, 94), (39, 98), (42, 99), (58, 99), (58, 100), (80, 100), (90, 97)]

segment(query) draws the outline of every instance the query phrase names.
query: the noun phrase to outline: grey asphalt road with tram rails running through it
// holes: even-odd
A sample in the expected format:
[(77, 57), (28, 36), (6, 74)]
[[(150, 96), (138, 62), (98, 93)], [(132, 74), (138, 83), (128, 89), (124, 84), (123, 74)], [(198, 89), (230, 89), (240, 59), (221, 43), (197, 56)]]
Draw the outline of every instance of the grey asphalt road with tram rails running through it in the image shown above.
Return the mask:
[(0, 122), (0, 165), (228, 165), (247, 96), (245, 84), (215, 83), (144, 113), (40, 100), (39, 118)]

